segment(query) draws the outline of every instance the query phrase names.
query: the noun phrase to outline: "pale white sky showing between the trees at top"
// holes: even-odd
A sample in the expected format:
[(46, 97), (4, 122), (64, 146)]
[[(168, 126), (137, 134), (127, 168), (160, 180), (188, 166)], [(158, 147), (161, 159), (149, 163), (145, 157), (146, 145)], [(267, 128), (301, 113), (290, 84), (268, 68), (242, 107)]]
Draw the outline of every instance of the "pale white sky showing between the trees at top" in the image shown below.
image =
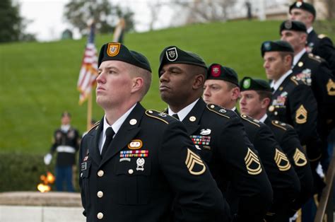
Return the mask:
[[(49, 41), (59, 40), (61, 33), (66, 28), (71, 26), (66, 23), (63, 13), (64, 6), (69, 0), (14, 0), (20, 4), (21, 16), (31, 20), (26, 32), (36, 34), (37, 40)], [(136, 22), (136, 31), (148, 30), (150, 23), (150, 10), (148, 9), (148, 2), (150, 0), (113, 0), (113, 4), (119, 3), (121, 6), (128, 6), (134, 11), (134, 20)], [(168, 1), (168, 0), (166, 0)], [(154, 2), (154, 1), (151, 1)], [(155, 23), (155, 28), (164, 28), (170, 25), (172, 11), (167, 7), (162, 8), (163, 14)], [(74, 33), (74, 37), (79, 35)]]

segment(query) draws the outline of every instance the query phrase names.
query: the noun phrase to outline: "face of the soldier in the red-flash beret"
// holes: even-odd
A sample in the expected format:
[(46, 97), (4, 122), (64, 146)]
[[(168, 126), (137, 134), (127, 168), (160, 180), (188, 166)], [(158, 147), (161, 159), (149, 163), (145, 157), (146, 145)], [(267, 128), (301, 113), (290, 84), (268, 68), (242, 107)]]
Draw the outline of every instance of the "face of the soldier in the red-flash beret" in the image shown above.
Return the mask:
[(238, 96), (235, 96), (233, 89), (225, 81), (208, 79), (204, 84), (204, 101), (207, 104), (213, 103), (230, 109), (231, 104), (235, 103)]

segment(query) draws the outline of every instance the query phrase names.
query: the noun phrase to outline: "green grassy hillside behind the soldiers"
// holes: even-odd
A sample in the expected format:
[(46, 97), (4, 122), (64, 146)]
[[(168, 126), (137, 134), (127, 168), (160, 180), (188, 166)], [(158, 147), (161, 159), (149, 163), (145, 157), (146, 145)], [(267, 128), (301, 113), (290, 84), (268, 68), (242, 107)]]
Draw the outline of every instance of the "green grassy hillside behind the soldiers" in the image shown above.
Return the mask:
[[(145, 54), (154, 71), (143, 105), (156, 110), (165, 107), (160, 101), (157, 74), (164, 47), (177, 45), (200, 54), (208, 64), (231, 66), (240, 78), (264, 78), (259, 48), (264, 40), (279, 38), (279, 24), (235, 21), (126, 35), (127, 47)], [(111, 40), (110, 35), (98, 35), (95, 45), (100, 49)], [(69, 110), (72, 124), (85, 131), (86, 103), (78, 105), (76, 90), (85, 45), (85, 39), (0, 45), (1, 151), (47, 152), (62, 110)], [(100, 119), (102, 110), (94, 100), (93, 104), (93, 117)]]

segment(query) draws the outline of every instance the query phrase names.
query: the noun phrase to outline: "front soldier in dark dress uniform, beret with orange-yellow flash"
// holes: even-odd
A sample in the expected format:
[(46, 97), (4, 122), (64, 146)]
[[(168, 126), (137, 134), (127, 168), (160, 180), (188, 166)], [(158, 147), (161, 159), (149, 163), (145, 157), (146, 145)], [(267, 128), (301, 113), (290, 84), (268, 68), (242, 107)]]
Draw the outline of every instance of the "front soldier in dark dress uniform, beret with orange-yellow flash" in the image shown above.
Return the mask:
[(79, 156), (86, 220), (230, 221), (184, 125), (140, 104), (151, 85), (146, 57), (110, 42), (98, 66), (96, 102), (105, 116), (83, 137)]

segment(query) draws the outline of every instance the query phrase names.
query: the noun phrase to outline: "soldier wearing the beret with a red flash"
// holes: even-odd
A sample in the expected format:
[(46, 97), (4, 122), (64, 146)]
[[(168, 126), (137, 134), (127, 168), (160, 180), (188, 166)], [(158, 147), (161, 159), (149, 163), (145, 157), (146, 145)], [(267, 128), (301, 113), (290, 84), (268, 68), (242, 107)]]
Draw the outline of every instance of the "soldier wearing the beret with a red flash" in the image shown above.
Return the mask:
[(240, 87), (235, 70), (221, 64), (211, 64), (204, 85), (204, 101), (233, 110), (240, 116), (245, 132), (259, 153), (274, 191), (274, 201), (266, 213), (265, 220), (288, 221), (289, 207), (300, 194), (300, 180), (271, 129), (257, 119), (240, 115), (237, 111), (236, 103), (239, 96)]

